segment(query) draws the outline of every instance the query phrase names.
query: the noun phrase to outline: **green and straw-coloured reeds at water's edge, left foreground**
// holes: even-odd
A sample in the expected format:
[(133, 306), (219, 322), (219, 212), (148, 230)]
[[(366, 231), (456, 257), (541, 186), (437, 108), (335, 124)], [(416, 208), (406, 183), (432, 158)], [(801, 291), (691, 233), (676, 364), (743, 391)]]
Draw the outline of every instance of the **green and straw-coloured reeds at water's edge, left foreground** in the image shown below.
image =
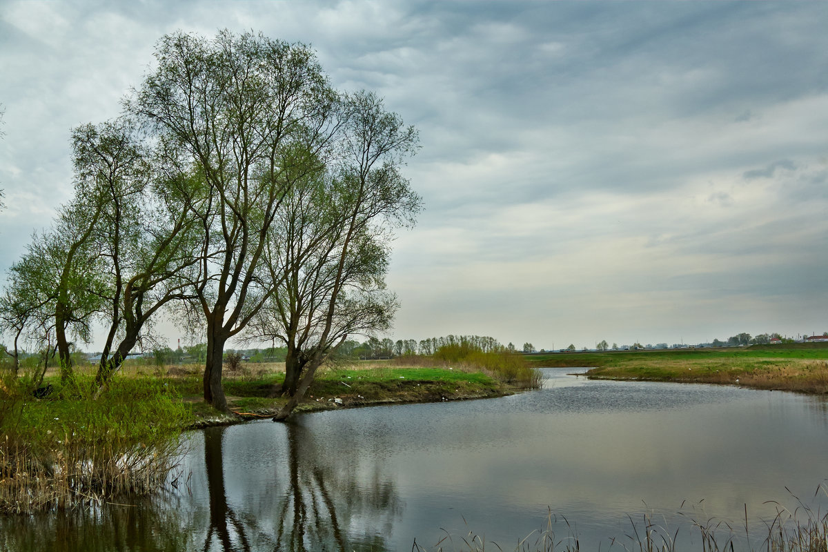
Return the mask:
[(98, 400), (91, 377), (43, 399), (29, 383), (0, 377), (0, 512), (146, 494), (176, 468), (186, 414), (163, 382), (116, 379)]

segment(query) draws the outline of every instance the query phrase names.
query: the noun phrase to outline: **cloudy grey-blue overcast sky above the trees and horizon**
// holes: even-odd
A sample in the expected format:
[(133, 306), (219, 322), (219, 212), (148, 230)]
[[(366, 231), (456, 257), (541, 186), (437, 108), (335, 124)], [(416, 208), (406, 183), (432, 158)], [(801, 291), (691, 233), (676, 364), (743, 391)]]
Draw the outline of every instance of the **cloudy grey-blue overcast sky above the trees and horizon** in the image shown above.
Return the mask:
[(310, 44), (418, 129), (390, 337), (821, 334), (826, 22), (828, 2), (0, 0), (0, 274), (70, 199), (71, 129), (118, 116), (164, 34), (227, 28)]

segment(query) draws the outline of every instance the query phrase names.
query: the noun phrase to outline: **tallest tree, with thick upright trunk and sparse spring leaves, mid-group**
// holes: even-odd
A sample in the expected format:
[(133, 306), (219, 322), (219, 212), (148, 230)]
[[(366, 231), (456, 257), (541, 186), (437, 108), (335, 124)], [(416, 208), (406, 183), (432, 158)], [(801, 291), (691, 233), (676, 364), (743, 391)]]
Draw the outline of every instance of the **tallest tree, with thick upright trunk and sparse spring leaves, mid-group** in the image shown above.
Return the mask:
[(156, 69), (128, 110), (204, 180), (199, 262), (186, 279), (206, 330), (205, 401), (219, 410), (224, 343), (273, 289), (262, 285), (267, 236), (295, 181), (320, 170), (335, 132), (337, 96), (314, 53), (265, 36), (164, 36)]

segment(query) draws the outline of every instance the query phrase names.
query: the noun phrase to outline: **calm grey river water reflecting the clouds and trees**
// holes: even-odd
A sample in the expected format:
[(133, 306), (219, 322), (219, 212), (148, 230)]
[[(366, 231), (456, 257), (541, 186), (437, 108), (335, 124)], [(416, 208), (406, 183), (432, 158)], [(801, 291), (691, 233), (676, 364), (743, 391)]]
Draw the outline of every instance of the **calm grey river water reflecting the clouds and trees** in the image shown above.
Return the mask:
[(550, 528), (559, 547), (624, 550), (645, 519), (678, 550), (701, 550), (697, 526), (739, 550), (781, 507), (825, 511), (826, 401), (579, 371), (498, 399), (194, 431), (177, 490), (2, 521), (0, 550), (468, 550), (469, 532), (513, 550)]

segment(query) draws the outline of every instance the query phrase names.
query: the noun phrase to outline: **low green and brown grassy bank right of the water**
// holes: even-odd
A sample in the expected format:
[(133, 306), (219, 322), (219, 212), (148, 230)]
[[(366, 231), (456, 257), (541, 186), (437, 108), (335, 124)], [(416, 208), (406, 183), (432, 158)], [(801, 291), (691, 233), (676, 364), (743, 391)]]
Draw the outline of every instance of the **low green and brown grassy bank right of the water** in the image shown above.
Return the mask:
[(556, 353), (536, 355), (529, 362), (546, 367), (593, 367), (588, 376), (603, 379), (720, 383), (828, 393), (828, 343)]

